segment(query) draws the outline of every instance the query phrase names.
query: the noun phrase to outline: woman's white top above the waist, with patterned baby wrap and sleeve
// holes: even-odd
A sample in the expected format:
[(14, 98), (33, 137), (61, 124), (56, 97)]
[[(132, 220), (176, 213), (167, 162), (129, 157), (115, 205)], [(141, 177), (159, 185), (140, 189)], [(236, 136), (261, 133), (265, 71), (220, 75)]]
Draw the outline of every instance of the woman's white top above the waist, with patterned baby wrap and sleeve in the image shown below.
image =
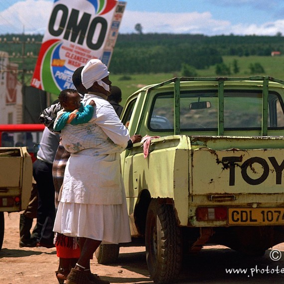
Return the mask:
[(87, 105), (91, 100), (96, 103), (93, 118), (85, 124), (66, 124), (61, 131), (62, 144), (71, 153), (85, 149), (90, 149), (92, 155), (121, 153), (130, 140), (127, 128), (107, 100), (85, 94), (82, 103)]

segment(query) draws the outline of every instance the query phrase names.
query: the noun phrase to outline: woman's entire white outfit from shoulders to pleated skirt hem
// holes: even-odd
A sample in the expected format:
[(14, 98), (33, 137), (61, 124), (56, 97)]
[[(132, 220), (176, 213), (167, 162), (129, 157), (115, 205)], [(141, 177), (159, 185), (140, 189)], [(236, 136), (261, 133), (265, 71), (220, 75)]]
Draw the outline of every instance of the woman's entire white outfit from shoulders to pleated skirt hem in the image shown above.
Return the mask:
[(62, 143), (71, 152), (53, 230), (103, 243), (131, 242), (120, 153), (129, 133), (111, 104), (86, 94), (96, 103), (90, 122), (66, 124)]

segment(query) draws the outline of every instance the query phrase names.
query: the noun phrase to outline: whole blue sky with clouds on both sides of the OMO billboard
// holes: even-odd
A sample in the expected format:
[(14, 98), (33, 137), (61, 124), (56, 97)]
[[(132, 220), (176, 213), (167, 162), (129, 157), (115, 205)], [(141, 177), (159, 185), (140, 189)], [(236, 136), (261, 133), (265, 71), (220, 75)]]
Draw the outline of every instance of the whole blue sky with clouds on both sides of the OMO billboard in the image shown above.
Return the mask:
[[(0, 34), (42, 33), (53, 0), (0, 0)], [(129, 0), (120, 33), (284, 34), (283, 0)]]

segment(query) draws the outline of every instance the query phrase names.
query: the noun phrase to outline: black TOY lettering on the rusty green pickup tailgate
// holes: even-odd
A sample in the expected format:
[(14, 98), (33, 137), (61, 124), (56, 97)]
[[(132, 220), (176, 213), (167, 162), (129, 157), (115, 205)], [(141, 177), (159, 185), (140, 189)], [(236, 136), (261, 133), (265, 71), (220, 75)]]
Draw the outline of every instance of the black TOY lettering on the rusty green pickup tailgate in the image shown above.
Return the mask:
[[(284, 169), (284, 160), (281, 164), (279, 164), (275, 157), (269, 157), (270, 163), (272, 167), (275, 169), (276, 172), (276, 184), (282, 184), (282, 172)], [(231, 156), (231, 157), (223, 157), (222, 163), (224, 164), (224, 168), (229, 168), (229, 185), (233, 186), (235, 185), (235, 168), (236, 168), (236, 162), (241, 162), (242, 158), (238, 156)], [(247, 169), (248, 167), (252, 167), (253, 163), (259, 163), (263, 167), (263, 173), (258, 178), (252, 178), (248, 175)], [(240, 166), (238, 164), (238, 166)], [(251, 185), (258, 185), (263, 183), (270, 173), (270, 165), (269, 163), (261, 157), (252, 157), (247, 159), (243, 162), (241, 167), (241, 174), (247, 183)]]

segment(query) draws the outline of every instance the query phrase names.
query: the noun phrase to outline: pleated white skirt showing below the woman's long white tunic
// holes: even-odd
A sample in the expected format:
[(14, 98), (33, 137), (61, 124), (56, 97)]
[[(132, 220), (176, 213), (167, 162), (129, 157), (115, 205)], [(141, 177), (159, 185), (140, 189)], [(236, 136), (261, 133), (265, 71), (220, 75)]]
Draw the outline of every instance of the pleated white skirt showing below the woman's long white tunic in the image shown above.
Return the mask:
[(131, 242), (124, 190), (122, 204), (59, 202), (53, 231), (66, 236), (102, 241), (103, 244)]

